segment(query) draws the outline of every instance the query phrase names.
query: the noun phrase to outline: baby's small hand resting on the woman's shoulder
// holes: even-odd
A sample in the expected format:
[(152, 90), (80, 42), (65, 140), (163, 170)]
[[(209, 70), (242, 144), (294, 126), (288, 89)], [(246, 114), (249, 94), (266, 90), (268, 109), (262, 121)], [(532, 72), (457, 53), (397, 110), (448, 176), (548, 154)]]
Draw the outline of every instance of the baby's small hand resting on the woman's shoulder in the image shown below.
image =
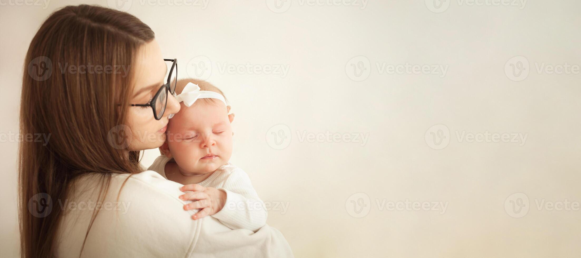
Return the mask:
[(198, 213), (192, 215), (194, 220), (220, 212), (226, 202), (226, 192), (213, 187), (191, 184), (184, 185), (180, 190), (182, 192), (193, 191), (180, 195), (180, 199), (194, 200), (194, 202), (184, 205), (184, 210), (200, 209)]

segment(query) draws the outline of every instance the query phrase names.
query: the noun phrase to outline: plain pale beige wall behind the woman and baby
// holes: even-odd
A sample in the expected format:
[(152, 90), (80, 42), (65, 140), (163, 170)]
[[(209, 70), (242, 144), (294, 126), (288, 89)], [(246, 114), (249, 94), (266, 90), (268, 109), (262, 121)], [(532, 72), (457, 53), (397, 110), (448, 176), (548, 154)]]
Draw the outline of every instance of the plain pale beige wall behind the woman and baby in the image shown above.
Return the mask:
[[(578, 257), (581, 2), (167, 1), (182, 5), (124, 7), (178, 58), (179, 77), (223, 89), (236, 113), (231, 161), (296, 257)], [(77, 2), (0, 3), (8, 135), (31, 38)], [(0, 146), (0, 250), (15, 257), (17, 142)]]

